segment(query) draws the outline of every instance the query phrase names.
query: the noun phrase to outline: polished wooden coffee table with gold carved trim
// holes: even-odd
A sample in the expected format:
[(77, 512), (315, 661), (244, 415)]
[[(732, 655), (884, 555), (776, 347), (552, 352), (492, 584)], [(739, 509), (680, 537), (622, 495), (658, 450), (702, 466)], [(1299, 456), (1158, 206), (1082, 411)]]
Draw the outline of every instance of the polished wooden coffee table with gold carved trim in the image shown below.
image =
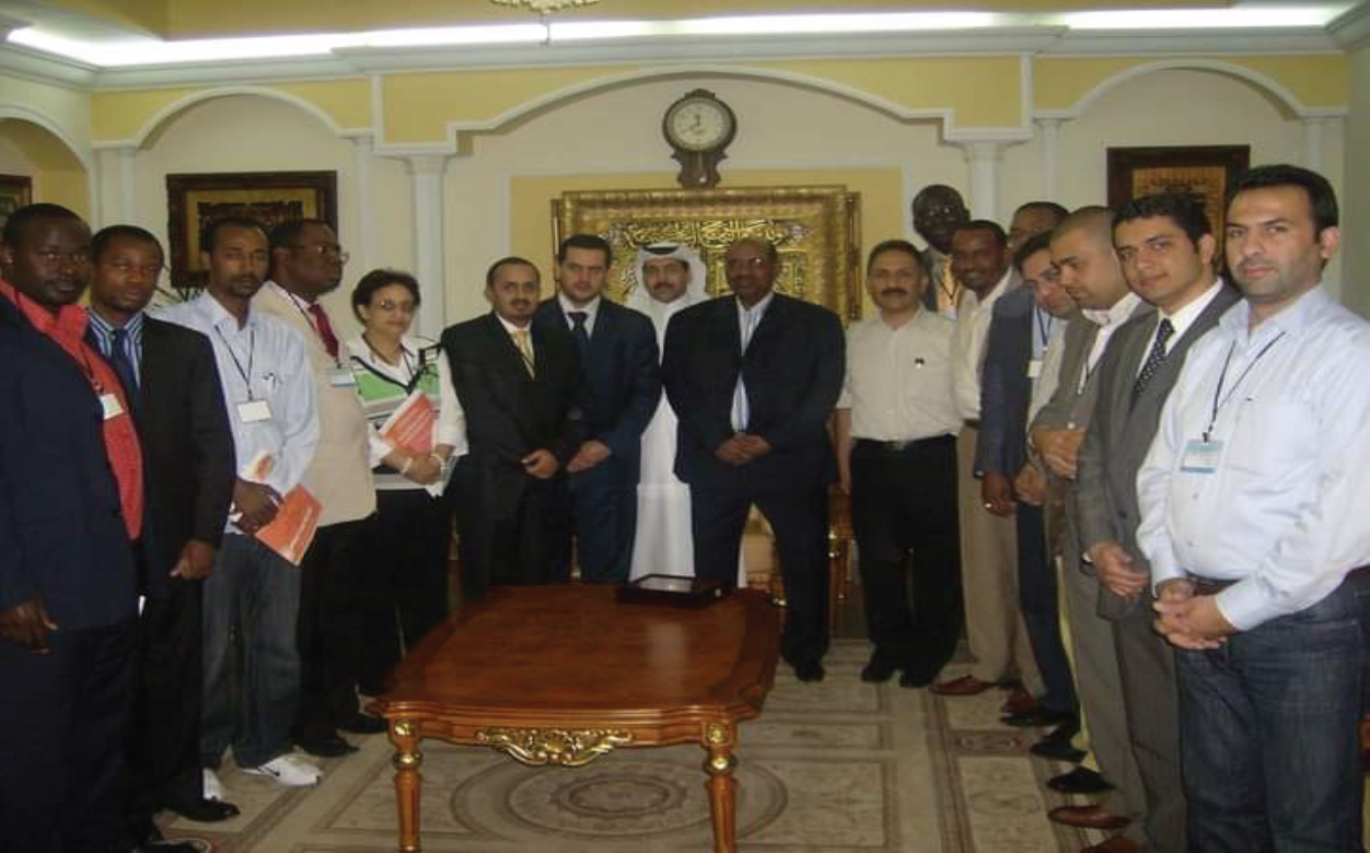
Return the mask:
[(578, 767), (629, 746), (708, 753), (714, 849), (736, 850), (737, 723), (775, 679), (778, 615), (737, 590), (703, 609), (619, 602), (607, 586), (507, 586), (406, 657), (370, 711), (390, 724), (400, 850), (419, 850), (422, 738)]

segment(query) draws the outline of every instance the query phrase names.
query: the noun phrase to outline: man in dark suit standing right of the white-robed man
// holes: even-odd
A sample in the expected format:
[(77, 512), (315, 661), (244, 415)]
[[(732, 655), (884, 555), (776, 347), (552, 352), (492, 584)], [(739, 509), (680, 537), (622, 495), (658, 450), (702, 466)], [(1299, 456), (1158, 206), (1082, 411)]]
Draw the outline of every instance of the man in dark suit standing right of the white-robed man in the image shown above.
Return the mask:
[(666, 329), (662, 379), (680, 416), (675, 475), (690, 487), (695, 574), (732, 586), (752, 504), (775, 531), (789, 615), (781, 653), (800, 680), (827, 650), (826, 424), (841, 392), (843, 326), (832, 311), (774, 293), (775, 246), (727, 249), (733, 296), (692, 305)]

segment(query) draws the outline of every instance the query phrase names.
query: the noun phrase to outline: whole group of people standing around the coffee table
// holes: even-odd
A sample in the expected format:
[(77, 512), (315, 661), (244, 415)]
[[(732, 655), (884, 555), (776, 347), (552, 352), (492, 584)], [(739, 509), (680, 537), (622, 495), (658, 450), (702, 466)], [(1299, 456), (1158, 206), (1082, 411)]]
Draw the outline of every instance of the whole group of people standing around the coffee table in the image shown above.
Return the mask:
[[(1180, 194), (1029, 203), (1004, 230), (934, 185), (912, 212), (926, 246), (870, 251), (877, 312), (845, 335), (775, 290), (766, 240), (727, 248), (712, 298), (696, 249), (643, 246), (619, 305), (611, 245), (575, 234), (551, 298), (501, 257), (492, 311), (437, 342), (410, 330), (419, 282), (370, 271), (344, 342), (325, 222), (208, 225), (204, 292), (149, 312), (152, 234), (16, 211), (0, 679), (23, 687), (0, 702), (0, 849), (189, 849), (153, 816), (236, 815), (229, 748), (315, 783), (296, 748), (384, 731), (359, 696), (445, 618), (453, 518), (470, 601), (577, 570), (730, 586), (755, 507), (781, 653), (821, 680), (833, 483), (860, 678), (1006, 689), (1004, 723), (1049, 730), (1034, 753), (1082, 763), (1048, 785), (1103, 795), (1049, 815), (1118, 831), (1092, 850), (1359, 849), (1370, 327), (1321, 288), (1328, 182), (1251, 170), (1222, 235)], [(412, 407), (419, 446), (388, 433)], [(319, 518), (296, 567), (264, 534), (301, 496)]]

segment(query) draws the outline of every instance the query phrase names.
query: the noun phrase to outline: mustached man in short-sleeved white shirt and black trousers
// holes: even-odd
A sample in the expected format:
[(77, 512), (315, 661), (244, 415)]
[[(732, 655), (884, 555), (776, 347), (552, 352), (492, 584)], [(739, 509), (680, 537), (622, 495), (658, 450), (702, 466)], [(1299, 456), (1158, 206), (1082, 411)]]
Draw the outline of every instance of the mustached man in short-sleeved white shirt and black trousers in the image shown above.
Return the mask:
[(951, 660), (962, 611), (955, 323), (923, 308), (926, 286), (912, 244), (888, 240), (871, 249), (866, 290), (880, 315), (847, 330), (834, 430), (875, 645), (860, 678), (884, 682), (903, 670), (899, 683), (906, 687), (932, 683)]

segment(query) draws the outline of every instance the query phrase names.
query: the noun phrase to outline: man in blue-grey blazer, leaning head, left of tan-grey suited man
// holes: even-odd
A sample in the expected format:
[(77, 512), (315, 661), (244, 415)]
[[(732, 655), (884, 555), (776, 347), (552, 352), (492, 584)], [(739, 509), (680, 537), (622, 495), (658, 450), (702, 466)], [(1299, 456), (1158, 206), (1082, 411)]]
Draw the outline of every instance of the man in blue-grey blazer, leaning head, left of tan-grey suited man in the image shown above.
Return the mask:
[(1051, 235), (1029, 238), (1014, 256), (1022, 286), (995, 304), (981, 375), (975, 470), (985, 508), (1012, 515), (1018, 545), (1018, 608), (1032, 641), (1044, 693), (1036, 708), (1011, 712), (1011, 726), (1078, 727), (1078, 701), (1070, 660), (1060, 637), (1056, 568), (1047, 555), (1041, 507), (1014, 494), (1012, 482), (1028, 461), (1028, 408), (1052, 326), (1075, 312), (1055, 281)]

